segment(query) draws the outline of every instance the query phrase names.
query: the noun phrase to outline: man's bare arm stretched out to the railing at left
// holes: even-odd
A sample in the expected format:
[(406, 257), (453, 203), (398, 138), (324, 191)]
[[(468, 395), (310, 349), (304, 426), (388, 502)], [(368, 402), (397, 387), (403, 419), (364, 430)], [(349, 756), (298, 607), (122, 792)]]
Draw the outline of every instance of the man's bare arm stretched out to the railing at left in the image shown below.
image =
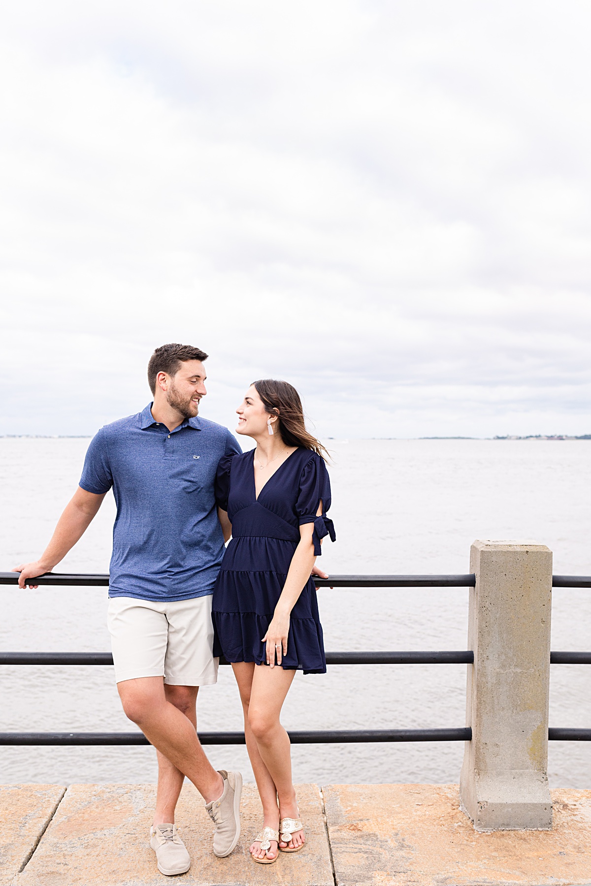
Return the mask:
[(43, 572), (51, 572), (53, 567), (63, 560), (70, 548), (89, 528), (93, 517), (96, 517), (106, 493), (97, 495), (88, 493), (78, 486), (74, 497), (66, 504), (66, 509), (58, 519), (58, 525), (51, 536), (51, 541), (35, 563), (21, 563), (12, 571), (20, 572), (19, 587), (39, 587), (32, 585), (27, 579), (35, 579)]

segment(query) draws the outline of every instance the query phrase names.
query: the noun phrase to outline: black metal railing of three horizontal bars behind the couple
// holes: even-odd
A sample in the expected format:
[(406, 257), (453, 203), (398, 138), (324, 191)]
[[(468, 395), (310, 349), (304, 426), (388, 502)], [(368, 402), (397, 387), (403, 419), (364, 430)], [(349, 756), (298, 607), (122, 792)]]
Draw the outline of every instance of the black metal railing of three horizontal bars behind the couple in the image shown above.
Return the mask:
[[(0, 572), (0, 585), (17, 584), (16, 572)], [(108, 587), (105, 574), (51, 572), (31, 579), (35, 585), (61, 587)], [(474, 587), (473, 574), (462, 575), (335, 575), (315, 577), (316, 587)], [(591, 587), (589, 576), (553, 576), (553, 587)], [(327, 652), (327, 664), (473, 664), (470, 649), (430, 651)], [(551, 652), (551, 664), (591, 664), (591, 652)], [(0, 664), (10, 665), (109, 665), (109, 652), (0, 652)], [(221, 660), (220, 664), (229, 664)], [(471, 739), (470, 727), (444, 729), (346, 729), (289, 731), (294, 744), (348, 742), (465, 742)], [(199, 732), (202, 744), (244, 744), (242, 732)], [(548, 739), (555, 741), (591, 741), (591, 729), (548, 729)], [(139, 745), (149, 744), (141, 732), (74, 733), (10, 732), (0, 733), (3, 745)]]

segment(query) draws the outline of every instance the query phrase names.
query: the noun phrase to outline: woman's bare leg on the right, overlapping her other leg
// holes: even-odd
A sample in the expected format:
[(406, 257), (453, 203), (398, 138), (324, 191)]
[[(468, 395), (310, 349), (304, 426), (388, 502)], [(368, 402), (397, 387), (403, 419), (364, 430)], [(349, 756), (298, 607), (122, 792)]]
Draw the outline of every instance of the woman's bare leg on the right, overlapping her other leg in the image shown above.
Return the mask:
[[(292, 782), (292, 746), (289, 735), (279, 722), (285, 696), (292, 685), (295, 671), (282, 667), (254, 665), (248, 720), (256, 740), (261, 761), (266, 767), (277, 792), (281, 818), (298, 818), (298, 804)], [(297, 849), (304, 843), (303, 831), (292, 835), (290, 843), (281, 843)]]

